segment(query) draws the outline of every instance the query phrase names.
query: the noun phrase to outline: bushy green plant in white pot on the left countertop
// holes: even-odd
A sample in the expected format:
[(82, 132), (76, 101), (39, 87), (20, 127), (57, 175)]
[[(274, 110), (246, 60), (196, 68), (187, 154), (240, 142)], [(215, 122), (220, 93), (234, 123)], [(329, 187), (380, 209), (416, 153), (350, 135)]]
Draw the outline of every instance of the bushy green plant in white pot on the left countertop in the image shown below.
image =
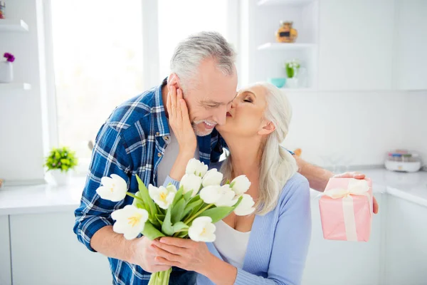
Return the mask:
[(68, 147), (54, 147), (46, 157), (44, 166), (48, 167), (56, 185), (65, 185), (68, 183), (69, 171), (73, 170), (77, 163), (75, 152)]

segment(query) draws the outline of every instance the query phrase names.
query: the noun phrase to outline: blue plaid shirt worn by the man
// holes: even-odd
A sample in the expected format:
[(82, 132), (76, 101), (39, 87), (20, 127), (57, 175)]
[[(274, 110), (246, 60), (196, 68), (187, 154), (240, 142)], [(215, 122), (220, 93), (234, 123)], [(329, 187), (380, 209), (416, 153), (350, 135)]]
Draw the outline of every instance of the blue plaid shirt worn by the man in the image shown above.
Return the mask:
[[(129, 196), (121, 202), (101, 199), (95, 192), (101, 177), (112, 173), (120, 175), (127, 181), (130, 192), (138, 189), (135, 175), (141, 177), (145, 185), (157, 185), (157, 168), (170, 135), (162, 100), (164, 84), (166, 81), (118, 106), (97, 133), (80, 207), (75, 209), (74, 226), (78, 240), (92, 252), (95, 252), (90, 247), (93, 234), (113, 224), (113, 211), (132, 204)], [(211, 135), (198, 137), (197, 141), (199, 160), (206, 165), (219, 160), (224, 142), (216, 130)], [(108, 260), (112, 284), (148, 284), (150, 273), (140, 266), (119, 259)], [(178, 278), (183, 272), (174, 268), (171, 278)]]

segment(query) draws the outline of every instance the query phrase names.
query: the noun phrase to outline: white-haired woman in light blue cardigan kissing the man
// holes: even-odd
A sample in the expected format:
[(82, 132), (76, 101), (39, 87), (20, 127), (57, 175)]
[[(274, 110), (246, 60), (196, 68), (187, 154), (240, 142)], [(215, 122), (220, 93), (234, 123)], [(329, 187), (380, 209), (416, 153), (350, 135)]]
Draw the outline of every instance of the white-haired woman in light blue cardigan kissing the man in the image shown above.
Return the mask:
[[(185, 104), (181, 92), (172, 100)], [(285, 94), (269, 83), (238, 92), (226, 123), (216, 127), (230, 155), (211, 167), (221, 167), (225, 180), (246, 175), (256, 210), (216, 223), (214, 243), (154, 242), (159, 264), (196, 271), (197, 284), (300, 284), (311, 234), (310, 187), (280, 146), (291, 115)], [(185, 115), (178, 118), (189, 124)]]

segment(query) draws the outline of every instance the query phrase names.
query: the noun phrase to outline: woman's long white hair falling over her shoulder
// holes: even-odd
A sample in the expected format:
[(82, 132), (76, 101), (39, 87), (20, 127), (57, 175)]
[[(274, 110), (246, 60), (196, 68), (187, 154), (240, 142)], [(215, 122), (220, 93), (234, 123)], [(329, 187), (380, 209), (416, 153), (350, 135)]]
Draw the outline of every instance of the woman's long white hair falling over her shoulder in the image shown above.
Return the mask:
[[(260, 161), (259, 197), (256, 202), (256, 214), (267, 214), (273, 210), (286, 182), (297, 172), (297, 162), (288, 150), (280, 144), (288, 135), (292, 108), (285, 93), (270, 83), (254, 83), (252, 86), (263, 86), (266, 91), (267, 108), (264, 118), (275, 126), (262, 146)], [(232, 155), (232, 154), (231, 154)], [(233, 166), (231, 159), (223, 162), (221, 172), (224, 180), (231, 180)]]

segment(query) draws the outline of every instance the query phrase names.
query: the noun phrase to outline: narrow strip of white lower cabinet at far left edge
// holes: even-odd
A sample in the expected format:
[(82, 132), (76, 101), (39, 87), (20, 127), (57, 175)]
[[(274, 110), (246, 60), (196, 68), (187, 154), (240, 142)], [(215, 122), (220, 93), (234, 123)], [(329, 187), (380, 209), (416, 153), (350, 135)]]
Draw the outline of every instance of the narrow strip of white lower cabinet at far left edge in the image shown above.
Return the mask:
[(11, 250), (9, 216), (0, 216), (0, 284), (11, 285)]

